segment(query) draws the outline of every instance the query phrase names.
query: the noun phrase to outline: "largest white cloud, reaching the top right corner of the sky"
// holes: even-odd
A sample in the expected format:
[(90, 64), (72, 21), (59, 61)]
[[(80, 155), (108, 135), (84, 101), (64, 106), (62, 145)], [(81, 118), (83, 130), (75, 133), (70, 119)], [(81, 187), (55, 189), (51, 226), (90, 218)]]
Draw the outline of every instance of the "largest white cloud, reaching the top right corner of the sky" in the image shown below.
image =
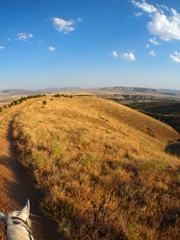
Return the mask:
[[(149, 14), (151, 21), (147, 24), (150, 34), (159, 36), (163, 41), (180, 40), (180, 14), (173, 8), (169, 9), (165, 5), (158, 5), (158, 8), (146, 1), (132, 3)], [(166, 9), (165, 14), (162, 9)]]

